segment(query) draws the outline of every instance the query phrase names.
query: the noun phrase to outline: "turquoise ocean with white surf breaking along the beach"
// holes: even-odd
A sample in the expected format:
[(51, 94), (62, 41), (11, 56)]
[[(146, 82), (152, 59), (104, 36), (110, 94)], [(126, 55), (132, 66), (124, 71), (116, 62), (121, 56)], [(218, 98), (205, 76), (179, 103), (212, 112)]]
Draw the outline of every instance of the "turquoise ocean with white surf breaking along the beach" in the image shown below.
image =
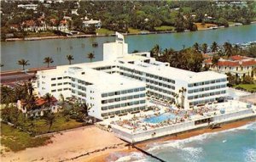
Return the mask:
[[(168, 162), (256, 162), (256, 122), (183, 140), (153, 143), (146, 149)], [(137, 152), (115, 153), (108, 161), (157, 162)]]

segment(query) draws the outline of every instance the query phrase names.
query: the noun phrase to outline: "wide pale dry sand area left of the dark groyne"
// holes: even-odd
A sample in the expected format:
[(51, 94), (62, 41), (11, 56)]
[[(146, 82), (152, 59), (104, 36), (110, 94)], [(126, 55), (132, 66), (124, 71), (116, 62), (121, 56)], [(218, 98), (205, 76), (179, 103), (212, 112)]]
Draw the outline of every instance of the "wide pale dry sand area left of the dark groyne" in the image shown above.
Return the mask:
[[(3, 153), (0, 161), (29, 162), (29, 161), (83, 161), (84, 159), (99, 156), (102, 153), (110, 154), (125, 148), (125, 142), (115, 137), (113, 133), (102, 131), (96, 126), (67, 131), (51, 137), (51, 143), (14, 153)], [(89, 152), (90, 155), (81, 156)]]

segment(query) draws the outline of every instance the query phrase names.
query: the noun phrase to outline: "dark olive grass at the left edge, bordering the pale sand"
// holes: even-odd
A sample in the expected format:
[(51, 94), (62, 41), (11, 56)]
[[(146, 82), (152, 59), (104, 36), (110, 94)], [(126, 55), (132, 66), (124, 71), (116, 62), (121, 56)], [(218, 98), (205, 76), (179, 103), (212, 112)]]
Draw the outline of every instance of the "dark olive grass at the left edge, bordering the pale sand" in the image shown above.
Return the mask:
[(30, 137), (26, 132), (1, 123), (1, 144), (14, 152), (46, 144), (49, 137)]

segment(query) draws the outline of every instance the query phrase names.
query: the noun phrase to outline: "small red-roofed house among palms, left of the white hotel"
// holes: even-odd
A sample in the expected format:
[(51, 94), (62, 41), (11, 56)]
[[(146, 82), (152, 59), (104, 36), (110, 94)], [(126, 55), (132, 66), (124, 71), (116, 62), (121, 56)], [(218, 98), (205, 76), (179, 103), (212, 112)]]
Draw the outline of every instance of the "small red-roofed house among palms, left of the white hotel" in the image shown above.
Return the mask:
[(37, 98), (34, 102), (34, 106), (32, 108), (27, 107), (27, 103), (24, 100), (18, 100), (17, 107), (22, 111), (22, 113), (26, 114), (26, 116), (42, 116), (45, 111), (50, 111), (53, 113), (58, 112), (60, 106), (57, 105), (57, 99), (55, 97), (51, 98), (51, 103), (49, 107), (46, 106), (46, 101), (44, 98)]

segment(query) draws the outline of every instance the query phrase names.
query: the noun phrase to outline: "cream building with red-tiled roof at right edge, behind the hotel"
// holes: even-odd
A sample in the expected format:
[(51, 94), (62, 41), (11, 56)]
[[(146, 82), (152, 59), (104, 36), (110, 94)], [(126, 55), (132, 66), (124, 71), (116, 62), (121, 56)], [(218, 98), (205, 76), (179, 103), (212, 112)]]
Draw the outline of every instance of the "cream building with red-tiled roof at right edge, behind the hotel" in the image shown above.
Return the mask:
[(218, 64), (213, 65), (212, 59), (206, 59), (203, 65), (207, 65), (210, 70), (217, 71), (222, 74), (230, 73), (243, 78), (245, 75), (256, 78), (256, 74), (253, 74), (253, 69), (256, 68), (256, 59), (245, 56), (231, 56), (229, 59), (219, 59)]

